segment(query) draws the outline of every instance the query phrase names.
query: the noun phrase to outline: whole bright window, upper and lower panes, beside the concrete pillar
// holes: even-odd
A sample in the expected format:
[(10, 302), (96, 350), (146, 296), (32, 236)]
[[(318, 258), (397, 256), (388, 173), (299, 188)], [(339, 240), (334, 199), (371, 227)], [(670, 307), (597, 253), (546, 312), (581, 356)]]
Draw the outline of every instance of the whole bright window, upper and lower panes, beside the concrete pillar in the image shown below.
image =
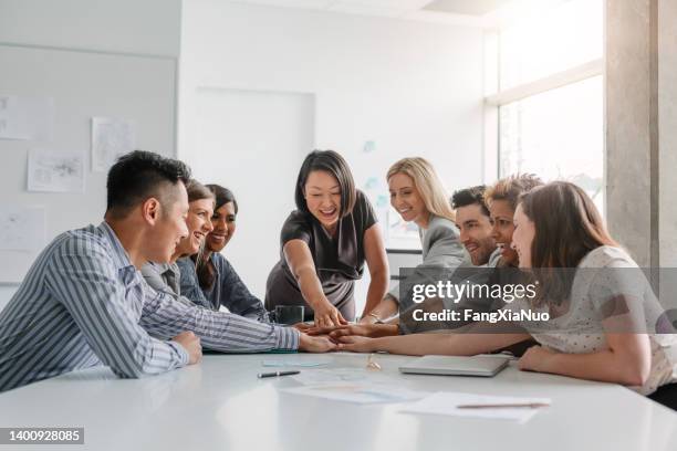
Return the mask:
[(499, 108), (490, 144), (499, 149), (499, 177), (572, 181), (603, 212), (602, 0), (564, 1), (506, 27), (493, 52), (499, 88), (487, 103)]

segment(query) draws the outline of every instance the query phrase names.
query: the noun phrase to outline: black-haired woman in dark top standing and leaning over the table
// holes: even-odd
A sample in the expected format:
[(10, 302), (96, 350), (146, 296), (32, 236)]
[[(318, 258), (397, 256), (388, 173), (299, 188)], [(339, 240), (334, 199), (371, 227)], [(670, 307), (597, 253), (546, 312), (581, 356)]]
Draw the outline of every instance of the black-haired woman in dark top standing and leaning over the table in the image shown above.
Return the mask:
[(381, 229), (367, 198), (355, 189), (347, 162), (315, 150), (301, 166), (294, 210), (281, 232), (280, 261), (265, 286), (265, 307), (304, 305), (305, 319), (337, 326), (355, 318), (354, 284), (366, 261), (371, 282), (365, 313), (387, 291)]

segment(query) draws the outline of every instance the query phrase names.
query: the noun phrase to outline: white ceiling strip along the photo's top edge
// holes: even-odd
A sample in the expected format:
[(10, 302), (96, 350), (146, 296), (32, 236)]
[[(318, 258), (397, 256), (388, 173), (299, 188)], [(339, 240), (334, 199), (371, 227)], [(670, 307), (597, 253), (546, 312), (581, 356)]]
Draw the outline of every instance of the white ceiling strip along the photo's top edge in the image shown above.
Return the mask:
[(376, 15), (471, 27), (496, 27), (511, 17), (565, 0), (229, 0), (344, 14)]

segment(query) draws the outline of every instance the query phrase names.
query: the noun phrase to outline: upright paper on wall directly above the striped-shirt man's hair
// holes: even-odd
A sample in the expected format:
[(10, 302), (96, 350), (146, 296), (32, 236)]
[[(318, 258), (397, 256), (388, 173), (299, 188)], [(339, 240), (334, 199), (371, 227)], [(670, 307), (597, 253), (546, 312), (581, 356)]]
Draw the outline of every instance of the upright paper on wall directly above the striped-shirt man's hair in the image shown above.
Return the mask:
[(136, 149), (136, 127), (125, 119), (92, 117), (92, 170), (105, 172), (115, 160)]

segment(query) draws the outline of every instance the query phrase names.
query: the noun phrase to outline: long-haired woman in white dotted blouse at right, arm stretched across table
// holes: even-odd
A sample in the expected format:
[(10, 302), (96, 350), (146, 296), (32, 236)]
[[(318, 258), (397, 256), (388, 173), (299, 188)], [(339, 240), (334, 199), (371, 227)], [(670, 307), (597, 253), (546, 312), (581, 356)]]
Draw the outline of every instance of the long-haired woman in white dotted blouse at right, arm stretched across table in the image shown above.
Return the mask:
[[(550, 315), (549, 321), (517, 323), (541, 345), (522, 356), (520, 368), (623, 384), (654, 394), (652, 397), (669, 391), (665, 397), (677, 401), (675, 329), (665, 321), (636, 263), (608, 234), (585, 191), (569, 182), (534, 188), (521, 198), (514, 226), (512, 247), (520, 268), (534, 272), (543, 295), (517, 300), (506, 310)], [(558, 273), (552, 269), (558, 268), (575, 269), (571, 283), (553, 283), (562, 281), (552, 279)], [(553, 289), (558, 286), (565, 290)], [(529, 336), (504, 327), (477, 323), (468, 326), (466, 334), (351, 336), (341, 338), (345, 344), (340, 348), (475, 355)], [(487, 333), (492, 331), (496, 333)]]

